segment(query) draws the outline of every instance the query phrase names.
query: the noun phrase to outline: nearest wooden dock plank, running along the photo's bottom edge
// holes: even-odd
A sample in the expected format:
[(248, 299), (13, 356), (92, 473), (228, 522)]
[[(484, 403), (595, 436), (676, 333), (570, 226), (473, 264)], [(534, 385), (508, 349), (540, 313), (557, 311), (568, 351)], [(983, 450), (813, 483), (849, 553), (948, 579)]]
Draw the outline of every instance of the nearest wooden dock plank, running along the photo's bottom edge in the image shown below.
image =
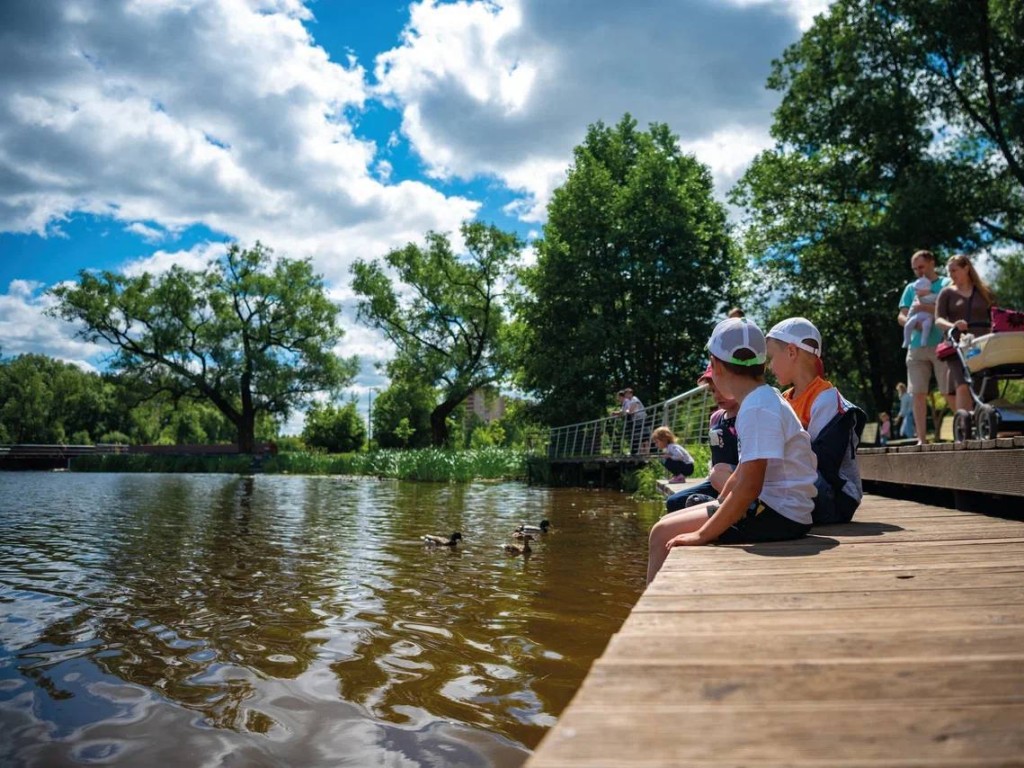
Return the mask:
[[(616, 709), (570, 707), (527, 765), (1021, 765), (1024, 705), (898, 701), (824, 707)], [(894, 744), (900, 749), (894, 755)], [(638, 762), (633, 756), (653, 755)], [(898, 755), (898, 756), (897, 756)], [(912, 762), (907, 762), (907, 761)]]

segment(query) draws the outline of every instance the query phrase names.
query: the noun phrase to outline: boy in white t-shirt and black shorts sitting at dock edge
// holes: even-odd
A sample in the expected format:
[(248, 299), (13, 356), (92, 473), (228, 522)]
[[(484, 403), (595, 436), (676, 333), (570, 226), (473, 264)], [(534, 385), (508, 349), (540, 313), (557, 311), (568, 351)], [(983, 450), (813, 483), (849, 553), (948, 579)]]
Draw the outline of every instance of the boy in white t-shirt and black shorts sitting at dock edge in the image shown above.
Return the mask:
[(811, 529), (817, 463), (797, 415), (765, 384), (766, 346), (761, 329), (744, 317), (723, 321), (712, 332), (715, 385), (739, 403), (739, 465), (719, 501), (686, 507), (654, 524), (648, 584), (673, 547), (786, 541)]

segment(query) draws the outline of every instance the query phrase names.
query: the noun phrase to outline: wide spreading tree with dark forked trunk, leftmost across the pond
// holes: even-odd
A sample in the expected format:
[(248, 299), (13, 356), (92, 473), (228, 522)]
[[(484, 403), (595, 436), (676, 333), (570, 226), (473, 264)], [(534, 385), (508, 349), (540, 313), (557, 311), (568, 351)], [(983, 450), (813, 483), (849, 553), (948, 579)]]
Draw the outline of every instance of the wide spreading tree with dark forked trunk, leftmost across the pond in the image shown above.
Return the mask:
[(171, 396), (212, 403), (252, 453), (257, 419), (287, 416), (313, 393), (345, 386), (354, 358), (333, 352), (337, 308), (308, 260), (273, 260), (231, 245), (202, 271), (160, 276), (81, 272), (53, 289), (52, 312), (115, 348), (113, 366)]

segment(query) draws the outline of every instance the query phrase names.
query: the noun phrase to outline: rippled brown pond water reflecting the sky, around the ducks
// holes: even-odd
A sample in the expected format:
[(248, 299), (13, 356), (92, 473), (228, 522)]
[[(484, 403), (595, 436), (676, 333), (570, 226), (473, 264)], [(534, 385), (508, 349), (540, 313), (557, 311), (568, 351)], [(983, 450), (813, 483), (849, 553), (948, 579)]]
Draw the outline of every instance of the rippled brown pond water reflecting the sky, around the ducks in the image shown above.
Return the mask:
[[(366, 478), (0, 474), (0, 765), (517, 766), (658, 509)], [(528, 559), (502, 550), (550, 519)], [(423, 534), (465, 536), (456, 551)]]

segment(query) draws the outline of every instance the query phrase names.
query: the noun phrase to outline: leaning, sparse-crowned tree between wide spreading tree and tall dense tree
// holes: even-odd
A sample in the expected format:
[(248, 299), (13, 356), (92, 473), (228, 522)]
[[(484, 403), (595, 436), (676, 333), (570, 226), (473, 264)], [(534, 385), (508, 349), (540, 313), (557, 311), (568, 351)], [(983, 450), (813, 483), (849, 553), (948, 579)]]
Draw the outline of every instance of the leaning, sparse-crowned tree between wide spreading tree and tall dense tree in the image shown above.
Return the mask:
[[(384, 262), (356, 261), (352, 289), (360, 296), (358, 318), (397, 349), (388, 362), (392, 381), (415, 380), (439, 390), (430, 413), (431, 440), (447, 441), (447, 418), (479, 387), (508, 372), (504, 343), (505, 289), (523, 244), (510, 232), (480, 222), (462, 226), (466, 256), (446, 234), (429, 232), (424, 246), (410, 243)], [(387, 268), (406, 291), (399, 295)]]

